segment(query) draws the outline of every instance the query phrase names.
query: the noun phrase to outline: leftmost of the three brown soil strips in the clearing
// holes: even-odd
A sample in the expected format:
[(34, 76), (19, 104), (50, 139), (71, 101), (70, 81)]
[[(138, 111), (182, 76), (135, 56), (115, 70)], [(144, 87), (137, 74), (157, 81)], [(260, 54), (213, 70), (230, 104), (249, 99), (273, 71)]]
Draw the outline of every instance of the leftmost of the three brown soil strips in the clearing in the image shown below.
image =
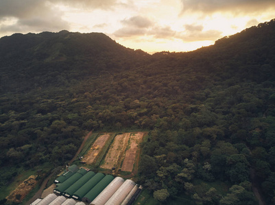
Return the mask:
[(82, 161), (86, 162), (87, 164), (93, 163), (109, 138), (109, 134), (99, 136), (93, 143), (91, 150), (88, 151), (88, 153), (84, 156)]

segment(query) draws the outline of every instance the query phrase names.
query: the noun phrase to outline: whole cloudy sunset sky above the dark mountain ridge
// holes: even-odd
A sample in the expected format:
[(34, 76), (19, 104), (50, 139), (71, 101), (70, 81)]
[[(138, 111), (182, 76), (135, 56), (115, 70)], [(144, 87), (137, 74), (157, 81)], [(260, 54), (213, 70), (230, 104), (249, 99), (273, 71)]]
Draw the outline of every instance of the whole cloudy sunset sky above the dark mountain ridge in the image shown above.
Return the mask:
[(274, 0), (0, 0), (0, 37), (66, 29), (148, 53), (191, 51), (272, 18)]

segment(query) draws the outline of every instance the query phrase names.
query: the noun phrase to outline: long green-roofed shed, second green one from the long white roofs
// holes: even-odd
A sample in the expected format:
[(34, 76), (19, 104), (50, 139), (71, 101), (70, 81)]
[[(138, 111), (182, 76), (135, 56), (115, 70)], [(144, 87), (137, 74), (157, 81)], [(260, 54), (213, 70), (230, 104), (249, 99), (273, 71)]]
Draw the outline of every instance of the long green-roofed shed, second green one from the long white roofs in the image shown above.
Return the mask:
[(102, 178), (104, 178), (104, 174), (102, 174), (102, 173), (95, 174), (95, 176), (93, 176), (93, 178), (88, 180), (88, 182), (86, 182), (80, 189), (78, 189), (77, 191), (75, 191), (75, 193), (73, 193), (73, 198), (81, 201), (82, 197), (84, 197), (84, 195), (86, 195), (86, 193), (88, 193), (88, 191), (93, 189), (93, 187), (95, 187), (95, 185)]

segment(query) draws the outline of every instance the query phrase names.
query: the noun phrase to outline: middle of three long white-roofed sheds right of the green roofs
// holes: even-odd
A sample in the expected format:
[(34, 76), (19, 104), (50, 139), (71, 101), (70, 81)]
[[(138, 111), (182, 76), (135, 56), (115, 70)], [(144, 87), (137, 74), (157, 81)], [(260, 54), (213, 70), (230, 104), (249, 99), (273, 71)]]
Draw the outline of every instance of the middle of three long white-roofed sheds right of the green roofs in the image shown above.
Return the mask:
[(132, 180), (125, 180), (125, 182), (117, 189), (117, 191), (110, 197), (105, 205), (120, 205), (125, 197), (130, 193), (130, 191), (136, 185)]

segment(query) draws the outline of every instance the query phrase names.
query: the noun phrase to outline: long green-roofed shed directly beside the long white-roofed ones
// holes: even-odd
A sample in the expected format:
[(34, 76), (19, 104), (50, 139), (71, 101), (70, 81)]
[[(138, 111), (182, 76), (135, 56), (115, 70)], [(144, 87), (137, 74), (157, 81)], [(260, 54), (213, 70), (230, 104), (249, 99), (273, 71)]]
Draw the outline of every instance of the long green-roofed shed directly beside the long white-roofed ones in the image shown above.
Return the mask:
[(91, 189), (91, 191), (88, 191), (88, 193), (84, 195), (82, 201), (91, 203), (95, 197), (97, 197), (97, 195), (99, 195), (99, 193), (101, 193), (101, 191), (103, 191), (108, 184), (112, 182), (112, 180), (114, 180), (113, 176), (106, 175), (100, 182), (98, 182), (98, 184), (95, 185), (95, 187), (93, 187), (93, 189)]

